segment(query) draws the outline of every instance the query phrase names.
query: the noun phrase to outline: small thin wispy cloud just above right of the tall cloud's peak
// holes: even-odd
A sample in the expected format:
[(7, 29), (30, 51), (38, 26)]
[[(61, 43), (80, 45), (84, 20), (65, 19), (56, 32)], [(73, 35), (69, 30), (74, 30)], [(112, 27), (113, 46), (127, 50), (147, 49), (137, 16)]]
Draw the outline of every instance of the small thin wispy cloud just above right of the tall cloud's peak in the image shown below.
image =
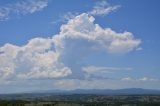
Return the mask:
[(90, 15), (94, 16), (104, 16), (109, 14), (110, 12), (113, 12), (117, 10), (120, 7), (120, 5), (111, 6), (106, 1), (97, 2), (97, 4), (93, 7), (91, 11), (88, 12)]

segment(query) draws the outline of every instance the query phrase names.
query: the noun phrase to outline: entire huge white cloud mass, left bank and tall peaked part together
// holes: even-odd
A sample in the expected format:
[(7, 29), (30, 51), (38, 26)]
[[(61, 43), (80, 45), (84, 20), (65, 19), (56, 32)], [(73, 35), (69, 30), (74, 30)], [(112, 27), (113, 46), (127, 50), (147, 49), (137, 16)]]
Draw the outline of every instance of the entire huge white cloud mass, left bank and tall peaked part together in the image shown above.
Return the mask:
[[(94, 52), (121, 54), (139, 47), (141, 40), (131, 32), (117, 33), (102, 28), (94, 20), (93, 16), (82, 13), (63, 24), (60, 32), (52, 38), (33, 38), (23, 46), (5, 44), (0, 47), (1, 78), (73, 76), (74, 65)], [(78, 71), (83, 74), (82, 70)]]

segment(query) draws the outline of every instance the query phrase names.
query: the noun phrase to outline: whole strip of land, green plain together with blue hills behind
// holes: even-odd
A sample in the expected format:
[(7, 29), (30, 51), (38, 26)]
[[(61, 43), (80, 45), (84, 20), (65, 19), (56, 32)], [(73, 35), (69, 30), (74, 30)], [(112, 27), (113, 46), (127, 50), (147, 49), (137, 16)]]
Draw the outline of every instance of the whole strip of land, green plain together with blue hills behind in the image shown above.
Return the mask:
[[(134, 93), (133, 93), (134, 92)], [(0, 95), (0, 106), (159, 106), (160, 91), (145, 89), (39, 91)]]

